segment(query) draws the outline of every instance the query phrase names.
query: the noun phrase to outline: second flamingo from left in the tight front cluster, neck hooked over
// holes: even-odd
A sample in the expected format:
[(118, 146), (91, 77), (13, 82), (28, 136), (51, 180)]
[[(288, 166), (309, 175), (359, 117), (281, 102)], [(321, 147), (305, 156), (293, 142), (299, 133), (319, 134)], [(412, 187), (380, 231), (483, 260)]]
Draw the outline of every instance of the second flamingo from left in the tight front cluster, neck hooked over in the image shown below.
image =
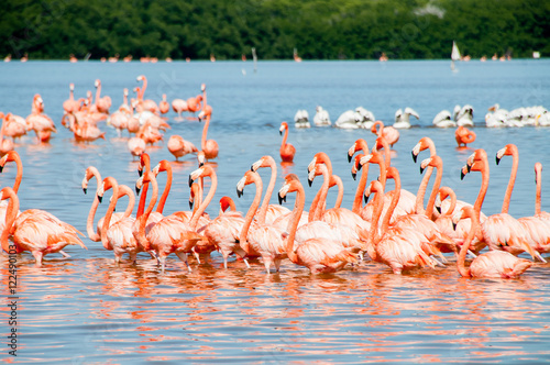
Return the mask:
[[(130, 261), (135, 264), (135, 259), (138, 253), (140, 253), (141, 246), (138, 244), (134, 235), (132, 234), (132, 225), (135, 221), (133, 217), (124, 217), (111, 224), (111, 217), (114, 211), (114, 207), (117, 206), (117, 201), (123, 195), (128, 195), (129, 197), (133, 197), (132, 190), (121, 185), (117, 184), (117, 180), (113, 177), (106, 177), (98, 189), (97, 198), (99, 202), (103, 197), (103, 193), (112, 188), (112, 198), (109, 203), (109, 209), (105, 215), (103, 225), (101, 228), (101, 243), (106, 250), (112, 250), (114, 253), (114, 262), (117, 264), (120, 263), (120, 258), (124, 253), (130, 255)], [(120, 196), (119, 196), (120, 190)], [(132, 201), (132, 198), (130, 198)], [(133, 208), (133, 204), (132, 204)]]

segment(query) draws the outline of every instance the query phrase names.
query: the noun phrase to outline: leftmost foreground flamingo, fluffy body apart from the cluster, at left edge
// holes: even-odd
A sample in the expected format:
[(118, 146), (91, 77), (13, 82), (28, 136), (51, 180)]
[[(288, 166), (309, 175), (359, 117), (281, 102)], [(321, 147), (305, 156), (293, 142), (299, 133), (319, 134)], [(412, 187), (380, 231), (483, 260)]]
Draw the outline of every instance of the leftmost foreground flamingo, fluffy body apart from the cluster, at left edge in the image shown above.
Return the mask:
[[(67, 245), (79, 245), (88, 250), (78, 237), (78, 232), (73, 225), (61, 222), (51, 214), (29, 214), (29, 217), (16, 223), (19, 211), (19, 199), (15, 191), (6, 187), (1, 191), (1, 200), (10, 199), (6, 212), (6, 228), (0, 241), (6, 252), (10, 251), (8, 236), (11, 235), (16, 253), (30, 251), (36, 259), (36, 267), (42, 266), (43, 256), (61, 252)], [(16, 224), (15, 224), (16, 223)], [(81, 234), (81, 233), (80, 233)]]

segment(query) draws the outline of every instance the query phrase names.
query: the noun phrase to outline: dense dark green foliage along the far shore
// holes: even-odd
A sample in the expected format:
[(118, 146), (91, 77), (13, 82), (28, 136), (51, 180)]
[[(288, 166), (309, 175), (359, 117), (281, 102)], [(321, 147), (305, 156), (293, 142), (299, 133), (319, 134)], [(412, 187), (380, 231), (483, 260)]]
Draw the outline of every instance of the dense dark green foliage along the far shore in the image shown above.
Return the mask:
[(91, 58), (550, 55), (550, 0), (7, 0), (0, 54)]

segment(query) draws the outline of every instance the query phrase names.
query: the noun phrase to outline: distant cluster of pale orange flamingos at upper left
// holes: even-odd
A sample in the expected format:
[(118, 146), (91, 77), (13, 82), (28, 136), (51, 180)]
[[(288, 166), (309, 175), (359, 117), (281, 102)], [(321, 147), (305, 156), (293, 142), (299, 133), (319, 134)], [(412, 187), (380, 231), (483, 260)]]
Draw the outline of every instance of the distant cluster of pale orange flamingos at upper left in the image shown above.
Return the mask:
[[(128, 148), (132, 156), (139, 157), (146, 150), (147, 145), (153, 145), (163, 141), (163, 133), (170, 125), (166, 122), (166, 114), (170, 104), (166, 101), (166, 95), (158, 103), (152, 99), (145, 99), (147, 79), (145, 76), (138, 76), (138, 81), (142, 81), (141, 87), (135, 87), (135, 98), (129, 101), (129, 90), (123, 89), (123, 102), (114, 112), (110, 112), (112, 104), (109, 96), (101, 96), (101, 81), (96, 80), (96, 96), (90, 90), (86, 98), (75, 98), (74, 84), (69, 85), (69, 98), (63, 102), (64, 114), (62, 125), (74, 133), (77, 142), (92, 142), (103, 139), (106, 132), (101, 131), (98, 123), (105, 121), (114, 128), (119, 136), (123, 131), (132, 135), (128, 140)], [(189, 141), (180, 135), (172, 135), (167, 142), (168, 151), (177, 158), (189, 153), (198, 153), (199, 159), (216, 158), (218, 155), (218, 144), (213, 140), (207, 139), (208, 128), (212, 108), (207, 104), (206, 86), (201, 85), (201, 93), (186, 100), (174, 99), (172, 109), (178, 114), (174, 120), (183, 121), (184, 112), (189, 112), (187, 120), (205, 121), (200, 151)], [(198, 118), (196, 113), (199, 112)], [(34, 130), (40, 143), (47, 143), (52, 132), (56, 133), (54, 121), (44, 113), (44, 101), (40, 95), (35, 95), (32, 102), (32, 112), (29, 117), (22, 118), (13, 113), (4, 114), (0, 112), (2, 126), (0, 129), (0, 154), (13, 151), (14, 141)]]

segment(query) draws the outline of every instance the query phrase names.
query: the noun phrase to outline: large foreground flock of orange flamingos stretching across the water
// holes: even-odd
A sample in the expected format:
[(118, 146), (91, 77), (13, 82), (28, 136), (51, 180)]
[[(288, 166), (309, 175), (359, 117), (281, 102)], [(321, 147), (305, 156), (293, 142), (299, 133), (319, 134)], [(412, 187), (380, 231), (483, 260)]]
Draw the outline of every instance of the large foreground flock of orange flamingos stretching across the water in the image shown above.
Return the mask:
[[(146, 81), (143, 89), (145, 86)], [(205, 89), (202, 87), (204, 92)], [(206, 93), (201, 97), (204, 106), (199, 118), (208, 120), (211, 108), (206, 104)], [(103, 107), (99, 100), (105, 100), (106, 106), (109, 101), (100, 99), (98, 91), (96, 108), (87, 111), (88, 117), (84, 117), (82, 123), (79, 121), (82, 118), (78, 114), (80, 110), (75, 112), (74, 109), (66, 109), (64, 121), (75, 131), (90, 128), (88, 120), (102, 112)], [(82, 101), (77, 102), (81, 107)], [(138, 104), (142, 104), (142, 108), (146, 104), (143, 91), (132, 101), (132, 108)], [(40, 101), (37, 106), (41, 106)], [(40, 112), (37, 108), (36, 113)], [(110, 114), (111, 124), (113, 117), (114, 113)], [(144, 125), (153, 128), (148, 121)], [(44, 132), (52, 131), (36, 131), (38, 136)], [(296, 148), (287, 143), (286, 122), (280, 124), (279, 132), (284, 133), (280, 159), (292, 162)], [(135, 182), (135, 191), (141, 196), (135, 217), (132, 215), (136, 200), (133, 190), (119, 185), (111, 176), (102, 178), (99, 170), (90, 166), (86, 169), (81, 184), (86, 193), (89, 180), (97, 179), (97, 190), (86, 221), (88, 236), (94, 242), (101, 241), (106, 250), (113, 251), (117, 263), (123, 259), (124, 254), (129, 254), (130, 262), (135, 264), (139, 253), (147, 253), (152, 259), (157, 261), (163, 273), (166, 258), (172, 253), (190, 272), (189, 254), (200, 264), (213, 251), (222, 255), (226, 268), (229, 257), (237, 255), (248, 267), (251, 265), (249, 261), (254, 263), (260, 258), (268, 274), (272, 266), (278, 272), (282, 261), (286, 258), (309, 268), (314, 274), (353, 269), (363, 259), (387, 265), (393, 273), (402, 274), (411, 269), (448, 265), (449, 256), (444, 254), (449, 253), (455, 256), (458, 272), (464, 277), (501, 278), (520, 276), (536, 259), (546, 263), (541, 253), (550, 252), (550, 214), (542, 212), (540, 208), (540, 163), (535, 165), (535, 215), (516, 220), (508, 214), (508, 206), (518, 168), (518, 151), (514, 144), (508, 144), (496, 153), (497, 164), (504, 156), (512, 156), (513, 167), (502, 212), (487, 217), (482, 212), (490, 177), (490, 164), (484, 150), (476, 150), (462, 168), (462, 178), (472, 172), (480, 172), (482, 175), (480, 193), (471, 204), (457, 200), (449, 187), (441, 187), (443, 162), (429, 137), (422, 137), (411, 151), (415, 163), (422, 151), (429, 151), (429, 157), (420, 163), (424, 178), (415, 195), (400, 187), (399, 172), (392, 166), (391, 142), (386, 139), (382, 122), (373, 125), (373, 132), (376, 140), (372, 150), (363, 139), (356, 140), (348, 150), (352, 176), (355, 179), (360, 175), (353, 204), (349, 208), (341, 207), (342, 180), (332, 174), (331, 161), (322, 152), (317, 153), (308, 165), (310, 186), (317, 176), (322, 177), (322, 185), (308, 211), (305, 210), (305, 189), (295, 174), (287, 175), (278, 190), (279, 203), (296, 193), (294, 209), (270, 203), (276, 186), (277, 164), (272, 156), (266, 155), (252, 162), (251, 169), (243, 172), (242, 179), (237, 182), (238, 197), (242, 196), (248, 185), (255, 186), (249, 210), (237, 211), (233, 200), (223, 197), (216, 218), (209, 217), (206, 209), (218, 186), (216, 169), (208, 163), (208, 159), (216, 158), (218, 145), (215, 141), (206, 140), (206, 133), (202, 135), (202, 150), (198, 152), (202, 155), (202, 158), (199, 156), (199, 167), (188, 177), (189, 211), (164, 213), (174, 178), (170, 163), (166, 159), (152, 166), (146, 153), (139, 154), (140, 178)], [(175, 157), (178, 155), (175, 154)], [(16, 253), (31, 252), (36, 266), (41, 266), (44, 255), (61, 253), (68, 256), (63, 252), (67, 245), (86, 248), (79, 237), (82, 233), (73, 225), (43, 210), (19, 210), (18, 189), (23, 176), (23, 165), (15, 151), (8, 151), (0, 159), (0, 173), (10, 162), (16, 166), (16, 176), (13, 187), (4, 187), (0, 192), (0, 240), (3, 251), (10, 251), (11, 240)], [(369, 181), (371, 165), (378, 166), (380, 176)], [(263, 182), (257, 170), (267, 167), (271, 169), (271, 178), (263, 193)], [(425, 207), (425, 196), (433, 170), (435, 182)], [(166, 173), (167, 179), (160, 196), (156, 178), (161, 173)], [(208, 192), (204, 192), (205, 178), (210, 179)], [(394, 180), (394, 190), (387, 191), (388, 179)], [(339, 189), (339, 198), (333, 208), (327, 208), (327, 195), (333, 186)], [(95, 215), (108, 190), (112, 190), (109, 207), (95, 230)], [(124, 196), (128, 196), (127, 208), (124, 212), (116, 213), (116, 207)], [(481, 253), (485, 247), (488, 251)], [(524, 252), (531, 255), (534, 261), (517, 257)], [(472, 258), (470, 265), (466, 264), (468, 257)]]

